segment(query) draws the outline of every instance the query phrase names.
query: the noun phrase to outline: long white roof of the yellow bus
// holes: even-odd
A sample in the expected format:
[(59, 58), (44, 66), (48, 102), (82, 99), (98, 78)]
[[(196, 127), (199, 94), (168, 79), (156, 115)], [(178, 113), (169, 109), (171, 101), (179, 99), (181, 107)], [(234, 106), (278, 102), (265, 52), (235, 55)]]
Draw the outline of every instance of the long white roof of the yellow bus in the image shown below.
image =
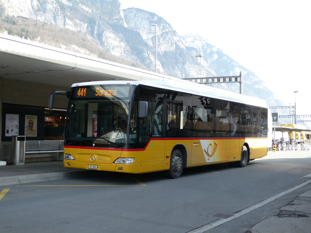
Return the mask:
[(160, 80), (141, 80), (141, 81), (121, 81), (121, 80), (109, 80), (109, 81), (94, 81), (94, 82), (84, 82), (75, 83), (72, 87), (86, 86), (86, 85), (108, 85), (108, 84), (127, 84), (127, 85), (146, 85), (155, 88), (169, 89), (178, 92), (205, 96), (216, 99), (223, 99), (228, 101), (234, 101), (238, 103), (244, 103), (248, 105), (267, 107), (265, 100), (254, 98), (250, 96), (241, 95), (238, 93), (210, 87), (207, 85), (202, 85), (178, 78), (165, 78), (165, 81)]

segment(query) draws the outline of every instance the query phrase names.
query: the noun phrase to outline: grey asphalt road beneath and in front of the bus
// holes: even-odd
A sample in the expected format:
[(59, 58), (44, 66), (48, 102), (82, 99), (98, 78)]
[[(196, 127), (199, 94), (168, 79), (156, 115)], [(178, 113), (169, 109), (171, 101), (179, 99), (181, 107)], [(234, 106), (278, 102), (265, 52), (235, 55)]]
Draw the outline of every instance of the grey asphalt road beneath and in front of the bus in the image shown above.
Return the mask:
[[(222, 212), (247, 212), (208, 232), (246, 232), (299, 194), (305, 185), (262, 206), (256, 204), (308, 180), (311, 152), (275, 152), (244, 168), (228, 164), (162, 172), (86, 172), (85, 177), (8, 186), (0, 200), (1, 232), (191, 232)], [(6, 188), (4, 186), (0, 188)], [(2, 190), (1, 189), (1, 190)]]

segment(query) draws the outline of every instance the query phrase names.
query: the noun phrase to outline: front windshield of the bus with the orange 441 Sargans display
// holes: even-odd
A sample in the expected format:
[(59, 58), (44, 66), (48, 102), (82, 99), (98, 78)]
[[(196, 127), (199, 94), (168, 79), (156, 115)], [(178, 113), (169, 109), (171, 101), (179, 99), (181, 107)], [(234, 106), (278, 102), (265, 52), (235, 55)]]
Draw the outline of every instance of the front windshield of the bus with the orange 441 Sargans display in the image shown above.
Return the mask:
[(92, 147), (123, 147), (133, 85), (72, 88), (65, 143)]

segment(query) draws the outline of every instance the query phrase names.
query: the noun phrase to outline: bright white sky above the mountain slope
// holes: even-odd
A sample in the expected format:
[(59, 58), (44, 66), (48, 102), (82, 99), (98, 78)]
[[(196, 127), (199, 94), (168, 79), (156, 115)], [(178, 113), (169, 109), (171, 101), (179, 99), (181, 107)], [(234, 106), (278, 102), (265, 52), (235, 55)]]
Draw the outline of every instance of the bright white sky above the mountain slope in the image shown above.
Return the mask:
[(122, 9), (136, 7), (156, 13), (181, 36), (200, 34), (253, 71), (285, 105), (295, 103), (294, 91), (298, 91), (297, 114), (311, 115), (311, 1), (119, 2)]

